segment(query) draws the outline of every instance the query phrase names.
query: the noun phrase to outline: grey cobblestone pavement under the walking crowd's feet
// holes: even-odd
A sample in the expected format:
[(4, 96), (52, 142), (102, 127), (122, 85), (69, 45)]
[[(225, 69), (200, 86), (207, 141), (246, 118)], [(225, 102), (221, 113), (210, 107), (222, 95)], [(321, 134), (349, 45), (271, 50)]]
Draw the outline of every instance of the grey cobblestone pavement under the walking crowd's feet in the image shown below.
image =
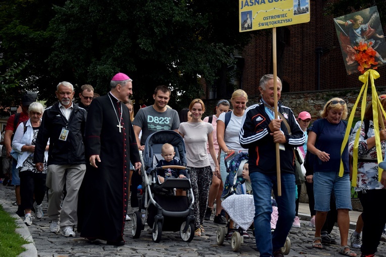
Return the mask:
[[(17, 210), (12, 206), (15, 201), (13, 187), (0, 185), (0, 204), (11, 213)], [(47, 210), (47, 202), (43, 202), (44, 213)], [(133, 212), (135, 210), (130, 210)], [(98, 215), (95, 213), (95, 215)], [(287, 256), (342, 256), (338, 253), (338, 245), (323, 245), (322, 250), (311, 247), (314, 230), (308, 226), (307, 217), (301, 220), (301, 228), (292, 228), (289, 238), (291, 240), (291, 250)], [(103, 217), (100, 223), (105, 222)], [(152, 241), (151, 229), (146, 225), (138, 239), (133, 239), (131, 235), (131, 223), (126, 224), (124, 246), (106, 245), (105, 241), (97, 240), (90, 243), (86, 239), (79, 237), (64, 237), (62, 235), (49, 232), (49, 219), (44, 216), (42, 219), (34, 219), (29, 227), (20, 222), (21, 229), (31, 234), (38, 256), (258, 256), (254, 239), (245, 240), (239, 251), (232, 251), (230, 240), (225, 240), (224, 245), (216, 244), (217, 224), (211, 221), (204, 223), (205, 233), (201, 237), (194, 237), (190, 243), (184, 242), (180, 238), (179, 232), (163, 232), (159, 243)], [(98, 226), (98, 224), (95, 224)], [(353, 230), (350, 230), (350, 235)], [(335, 228), (332, 232), (333, 237), (339, 241), (339, 230)], [(247, 242), (248, 241), (248, 242)], [(359, 249), (356, 249), (359, 257)], [(1, 253), (0, 253), (1, 255)], [(28, 256), (24, 254), (24, 256)], [(381, 242), (378, 247), (377, 256), (386, 256), (386, 243)]]

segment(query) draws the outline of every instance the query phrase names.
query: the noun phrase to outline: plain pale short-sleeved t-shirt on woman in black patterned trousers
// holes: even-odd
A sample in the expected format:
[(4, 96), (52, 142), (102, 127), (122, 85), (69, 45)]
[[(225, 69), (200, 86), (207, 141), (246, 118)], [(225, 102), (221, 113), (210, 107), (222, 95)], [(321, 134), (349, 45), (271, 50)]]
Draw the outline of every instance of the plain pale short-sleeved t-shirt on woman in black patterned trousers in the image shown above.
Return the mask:
[(210, 166), (211, 156), (206, 153), (206, 142), (208, 134), (213, 132), (212, 125), (203, 121), (182, 122), (178, 132), (184, 134), (187, 166), (195, 168)]

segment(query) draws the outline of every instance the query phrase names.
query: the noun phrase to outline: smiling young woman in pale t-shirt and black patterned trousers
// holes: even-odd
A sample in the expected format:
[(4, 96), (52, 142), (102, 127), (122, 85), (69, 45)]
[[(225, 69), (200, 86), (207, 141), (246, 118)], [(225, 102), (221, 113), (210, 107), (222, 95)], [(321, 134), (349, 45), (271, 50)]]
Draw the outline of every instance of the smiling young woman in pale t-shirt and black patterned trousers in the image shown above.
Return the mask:
[(189, 105), (189, 110), (192, 113), (192, 119), (182, 122), (178, 128), (178, 133), (185, 141), (187, 167), (190, 169), (190, 181), (194, 194), (193, 209), (196, 218), (194, 234), (201, 236), (201, 233), (205, 232), (202, 224), (208, 204), (210, 182), (212, 181), (212, 169), (206, 152), (206, 143), (208, 143), (216, 173), (218, 173), (218, 162), (213, 147), (213, 126), (201, 120), (201, 116), (205, 112), (204, 103), (201, 99), (194, 99)]

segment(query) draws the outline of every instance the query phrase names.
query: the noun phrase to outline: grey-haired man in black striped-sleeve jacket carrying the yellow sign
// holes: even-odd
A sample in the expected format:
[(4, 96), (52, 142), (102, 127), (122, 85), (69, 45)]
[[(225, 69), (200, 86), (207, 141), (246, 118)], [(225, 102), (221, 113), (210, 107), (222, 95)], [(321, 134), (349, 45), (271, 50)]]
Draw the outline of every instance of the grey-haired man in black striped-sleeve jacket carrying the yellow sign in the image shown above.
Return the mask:
[[(278, 117), (274, 116), (274, 77), (264, 75), (260, 79), (260, 101), (250, 106), (243, 116), (240, 130), (240, 144), (248, 148), (249, 177), (251, 178), (255, 204), (255, 238), (260, 256), (283, 256), (281, 248), (295, 218), (295, 165), (294, 148), (305, 142), (292, 110), (280, 102), (277, 104)], [(278, 101), (282, 81), (277, 78)], [(280, 147), (280, 169), (282, 195), (278, 196), (275, 144)], [(278, 204), (279, 219), (271, 235), (272, 213), (271, 190)]]

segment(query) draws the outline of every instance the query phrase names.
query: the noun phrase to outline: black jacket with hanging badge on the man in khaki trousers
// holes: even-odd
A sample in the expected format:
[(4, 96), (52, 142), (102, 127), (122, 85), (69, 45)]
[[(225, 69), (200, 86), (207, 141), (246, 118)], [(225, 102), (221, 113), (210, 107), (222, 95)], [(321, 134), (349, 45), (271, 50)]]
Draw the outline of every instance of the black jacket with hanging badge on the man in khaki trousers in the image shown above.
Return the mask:
[[(59, 102), (45, 109), (36, 138), (34, 163), (43, 162), (44, 149), (49, 139), (48, 162), (50, 164), (85, 164), (83, 139), (87, 111), (73, 103), (69, 121), (59, 109)], [(69, 131), (66, 141), (60, 140), (62, 129)]]

